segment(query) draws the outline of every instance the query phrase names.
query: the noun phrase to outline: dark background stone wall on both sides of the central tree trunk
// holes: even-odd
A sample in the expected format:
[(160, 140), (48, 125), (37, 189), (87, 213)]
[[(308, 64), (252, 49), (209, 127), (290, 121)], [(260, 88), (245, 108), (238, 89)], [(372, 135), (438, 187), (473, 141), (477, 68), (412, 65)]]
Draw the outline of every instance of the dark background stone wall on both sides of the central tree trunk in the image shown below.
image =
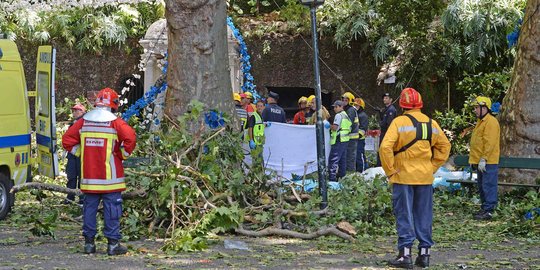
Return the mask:
[[(266, 93), (265, 86), (313, 86), (313, 56), (309, 47), (311, 39), (305, 39), (307, 43), (301, 37), (246, 40), (251, 55), (252, 75), (260, 93)], [(133, 73), (140, 74), (137, 64), (142, 48), (136, 40), (131, 40), (128, 44), (129, 50), (124, 47), (109, 47), (101, 53), (81, 53), (76, 48), (57, 46), (57, 103), (63, 102), (64, 97), (73, 99), (88, 96), (104, 87), (121, 90), (125, 78)], [(23, 57), (28, 88), (34, 89), (37, 45), (23, 42), (18, 42), (18, 45)], [(375, 110), (370, 105), (381, 107), (381, 95), (384, 92), (390, 92), (395, 98), (399, 95), (399, 90), (393, 85), (376, 84), (379, 65), (365, 44), (354, 42), (350, 48), (338, 49), (331, 39), (323, 38), (319, 50), (324, 61), (320, 63), (321, 87), (323, 93), (329, 94), (325, 96), (329, 96), (331, 100), (338, 99), (342, 93), (349, 91), (345, 85), (347, 84), (354, 93), (365, 99), (368, 114), (374, 114)], [(417, 88), (424, 96), (427, 112), (444, 109), (445, 92), (437, 93), (433, 88), (424, 91), (423, 87)]]

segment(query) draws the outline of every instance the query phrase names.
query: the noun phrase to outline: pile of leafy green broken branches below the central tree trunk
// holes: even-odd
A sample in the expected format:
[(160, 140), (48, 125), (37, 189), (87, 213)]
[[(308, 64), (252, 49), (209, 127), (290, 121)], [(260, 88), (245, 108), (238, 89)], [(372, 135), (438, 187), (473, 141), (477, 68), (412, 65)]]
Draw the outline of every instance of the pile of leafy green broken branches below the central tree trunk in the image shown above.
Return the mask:
[(239, 132), (208, 129), (200, 118), (202, 107), (194, 102), (178, 120), (163, 121), (160, 132), (140, 134), (135, 155), (151, 162), (126, 174), (128, 186), (146, 196), (126, 201), (125, 235), (166, 237), (166, 250), (186, 251), (203, 249), (208, 236), (230, 231), (353, 240), (356, 230), (388, 227), (390, 193), (383, 180), (372, 184), (348, 176), (342, 190), (330, 192), (332, 207), (319, 210), (317, 194), (275, 181), (261, 163), (245, 164)]

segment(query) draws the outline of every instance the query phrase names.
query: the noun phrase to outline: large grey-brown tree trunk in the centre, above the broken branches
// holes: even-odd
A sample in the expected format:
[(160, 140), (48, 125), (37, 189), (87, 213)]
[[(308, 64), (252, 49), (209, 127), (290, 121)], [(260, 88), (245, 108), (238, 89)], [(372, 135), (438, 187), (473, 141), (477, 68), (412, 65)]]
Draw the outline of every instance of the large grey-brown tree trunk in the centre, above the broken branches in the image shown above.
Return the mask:
[(169, 27), (165, 112), (175, 118), (193, 99), (233, 113), (227, 56), (226, 1), (166, 0)]

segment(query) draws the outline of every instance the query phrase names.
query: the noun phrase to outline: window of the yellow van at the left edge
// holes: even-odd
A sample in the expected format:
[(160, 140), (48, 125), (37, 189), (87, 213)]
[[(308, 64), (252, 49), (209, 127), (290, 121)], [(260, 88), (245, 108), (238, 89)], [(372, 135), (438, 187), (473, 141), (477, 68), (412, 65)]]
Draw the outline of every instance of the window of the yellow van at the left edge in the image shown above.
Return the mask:
[(6, 104), (0, 106), (0, 115), (20, 115), (26, 112), (24, 82), (19, 70), (7, 68), (0, 63), (0, 100)]

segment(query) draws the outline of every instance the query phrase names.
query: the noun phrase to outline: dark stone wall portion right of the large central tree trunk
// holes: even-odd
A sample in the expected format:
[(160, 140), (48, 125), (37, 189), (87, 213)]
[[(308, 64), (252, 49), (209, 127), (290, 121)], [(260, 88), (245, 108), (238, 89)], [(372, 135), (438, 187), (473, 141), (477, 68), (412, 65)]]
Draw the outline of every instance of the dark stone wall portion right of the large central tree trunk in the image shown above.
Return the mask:
[[(252, 75), (259, 92), (266, 93), (265, 86), (313, 87), (311, 37), (304, 39), (263, 37), (246, 40), (253, 66)], [(393, 84), (377, 85), (381, 63), (375, 62), (366, 44), (358, 41), (353, 42), (350, 48), (337, 48), (330, 38), (322, 38), (319, 51), (322, 59), (322, 92), (331, 94), (332, 100), (339, 99), (342, 93), (349, 91), (348, 85), (355, 96), (364, 98), (368, 114), (374, 114), (375, 110), (371, 106), (383, 106), (382, 94), (389, 92), (394, 100), (399, 96), (400, 90), (395, 89)], [(446, 92), (436, 91), (439, 87), (429, 83), (412, 87), (417, 88), (425, 97), (428, 113), (445, 108)], [(399, 108), (398, 104), (395, 105)]]

